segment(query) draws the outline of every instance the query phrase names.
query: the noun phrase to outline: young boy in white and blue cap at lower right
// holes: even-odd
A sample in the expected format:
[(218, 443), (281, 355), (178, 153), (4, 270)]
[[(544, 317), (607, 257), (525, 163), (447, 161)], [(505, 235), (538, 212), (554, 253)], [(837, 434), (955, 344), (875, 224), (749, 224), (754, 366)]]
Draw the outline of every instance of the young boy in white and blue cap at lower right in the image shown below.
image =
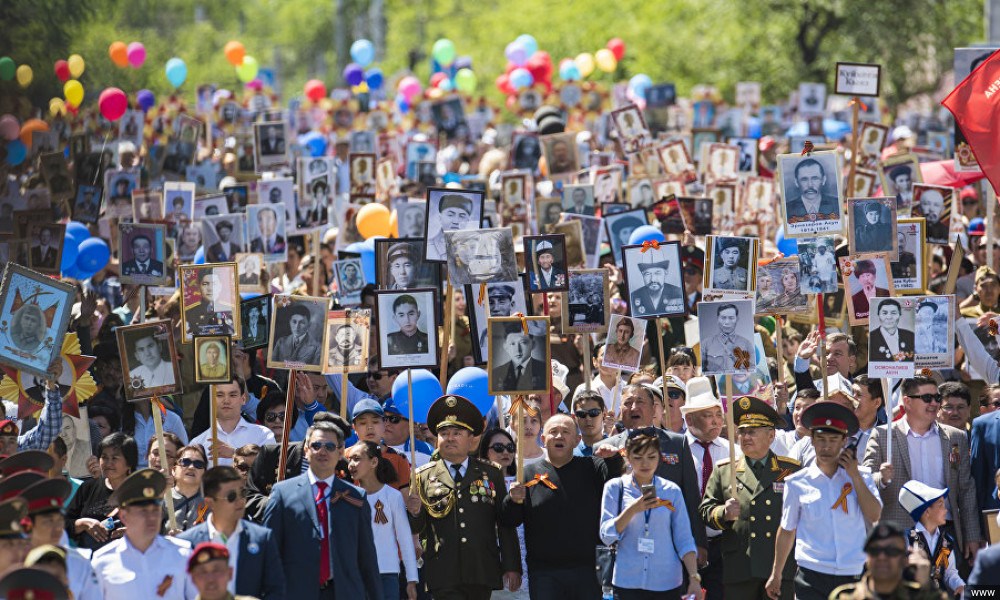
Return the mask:
[[(948, 488), (939, 490), (917, 480), (910, 480), (899, 490), (899, 504), (906, 509), (916, 526), (906, 532), (907, 544), (918, 546), (931, 562), (931, 581), (938, 589), (961, 597), (965, 582), (955, 566), (955, 540), (941, 530), (947, 521), (945, 498)], [(961, 550), (959, 550), (961, 551)]]

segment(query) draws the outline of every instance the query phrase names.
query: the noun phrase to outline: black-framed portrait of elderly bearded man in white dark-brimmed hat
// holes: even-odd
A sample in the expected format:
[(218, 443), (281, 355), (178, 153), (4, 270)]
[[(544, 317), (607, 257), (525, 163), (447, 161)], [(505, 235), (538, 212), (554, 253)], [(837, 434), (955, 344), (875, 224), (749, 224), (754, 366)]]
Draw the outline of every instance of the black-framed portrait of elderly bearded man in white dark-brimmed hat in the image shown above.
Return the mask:
[(632, 316), (647, 319), (685, 314), (679, 242), (660, 242), (659, 248), (624, 246), (622, 258)]

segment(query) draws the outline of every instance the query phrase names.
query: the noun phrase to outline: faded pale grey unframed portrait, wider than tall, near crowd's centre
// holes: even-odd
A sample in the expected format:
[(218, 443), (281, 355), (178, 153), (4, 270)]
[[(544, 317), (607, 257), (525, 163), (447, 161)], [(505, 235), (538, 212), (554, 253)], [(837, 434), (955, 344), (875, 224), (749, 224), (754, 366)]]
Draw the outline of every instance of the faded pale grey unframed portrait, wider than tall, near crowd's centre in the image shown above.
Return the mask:
[(453, 285), (517, 279), (514, 237), (509, 227), (445, 232), (448, 280)]

